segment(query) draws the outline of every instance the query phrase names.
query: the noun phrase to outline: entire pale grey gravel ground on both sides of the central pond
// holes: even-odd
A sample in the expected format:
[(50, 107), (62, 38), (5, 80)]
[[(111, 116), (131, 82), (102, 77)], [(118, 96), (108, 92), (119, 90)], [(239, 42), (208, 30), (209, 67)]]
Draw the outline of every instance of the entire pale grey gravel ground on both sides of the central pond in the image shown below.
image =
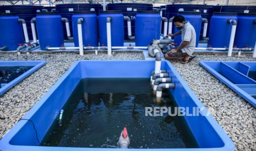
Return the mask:
[[(0, 138), (34, 106), (61, 75), (77, 60), (143, 60), (140, 53), (106, 54), (74, 53), (55, 54), (4, 54), (0, 60), (46, 60), (47, 64), (14, 86), (0, 98)], [(256, 109), (219, 80), (199, 66), (201, 60), (256, 61), (248, 57), (226, 57), (226, 55), (197, 55), (183, 65), (172, 62), (177, 71), (209, 112), (235, 142), (236, 150), (256, 150)]]

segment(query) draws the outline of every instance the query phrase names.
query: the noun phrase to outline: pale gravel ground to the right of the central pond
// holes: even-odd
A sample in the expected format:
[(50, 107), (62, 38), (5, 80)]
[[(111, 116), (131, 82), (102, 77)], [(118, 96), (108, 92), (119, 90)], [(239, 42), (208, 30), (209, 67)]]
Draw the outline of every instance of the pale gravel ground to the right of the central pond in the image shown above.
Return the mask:
[(236, 150), (256, 150), (256, 108), (207, 72), (199, 61), (256, 61), (252, 56), (197, 55), (186, 65), (172, 61), (189, 87), (235, 143)]

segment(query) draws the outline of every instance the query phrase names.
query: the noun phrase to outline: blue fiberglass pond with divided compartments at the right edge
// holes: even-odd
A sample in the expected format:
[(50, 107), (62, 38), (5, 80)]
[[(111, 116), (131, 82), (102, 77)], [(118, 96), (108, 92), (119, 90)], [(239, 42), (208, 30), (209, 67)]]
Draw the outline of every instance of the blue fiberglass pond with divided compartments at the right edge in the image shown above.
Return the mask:
[(256, 107), (256, 61), (200, 61), (200, 65)]

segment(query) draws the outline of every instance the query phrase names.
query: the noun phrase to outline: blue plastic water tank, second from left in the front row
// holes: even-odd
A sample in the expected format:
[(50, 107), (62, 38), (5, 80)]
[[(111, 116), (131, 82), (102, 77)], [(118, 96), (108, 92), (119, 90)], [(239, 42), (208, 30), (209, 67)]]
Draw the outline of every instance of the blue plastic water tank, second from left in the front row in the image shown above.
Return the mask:
[(64, 44), (61, 15), (58, 12), (41, 12), (36, 15), (36, 27), (42, 50), (62, 47)]

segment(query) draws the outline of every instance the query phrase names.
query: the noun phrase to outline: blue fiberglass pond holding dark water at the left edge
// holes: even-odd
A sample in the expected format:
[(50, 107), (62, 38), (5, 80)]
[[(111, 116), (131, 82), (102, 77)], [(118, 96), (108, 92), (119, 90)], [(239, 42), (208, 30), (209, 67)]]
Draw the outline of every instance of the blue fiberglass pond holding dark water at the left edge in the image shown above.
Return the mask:
[(45, 63), (46, 61), (0, 61), (0, 96)]

